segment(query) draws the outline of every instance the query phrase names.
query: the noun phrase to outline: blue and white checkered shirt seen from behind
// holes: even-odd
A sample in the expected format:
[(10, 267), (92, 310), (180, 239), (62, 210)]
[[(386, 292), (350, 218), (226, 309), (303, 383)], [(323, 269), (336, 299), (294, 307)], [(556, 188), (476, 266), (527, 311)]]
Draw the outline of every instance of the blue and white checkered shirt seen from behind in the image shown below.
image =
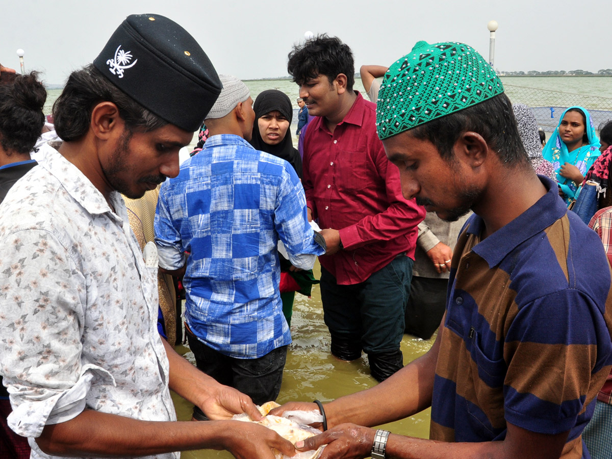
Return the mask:
[(293, 167), (239, 136), (212, 136), (163, 183), (155, 214), (160, 266), (178, 269), (190, 252), (185, 320), (204, 344), (245, 359), (291, 343), (278, 290), (279, 238), (302, 269), (324, 253)]

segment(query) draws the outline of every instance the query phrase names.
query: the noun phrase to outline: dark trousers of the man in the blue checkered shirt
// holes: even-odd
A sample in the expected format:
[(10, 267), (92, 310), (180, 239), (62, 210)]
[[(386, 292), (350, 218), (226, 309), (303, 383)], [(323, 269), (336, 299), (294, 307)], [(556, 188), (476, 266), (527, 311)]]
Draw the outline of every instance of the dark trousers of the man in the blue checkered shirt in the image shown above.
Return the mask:
[[(276, 400), (283, 379), (287, 346), (276, 348), (258, 359), (236, 359), (209, 348), (187, 327), (185, 330), (199, 370), (219, 383), (247, 394), (257, 405)], [(194, 407), (193, 412), (198, 419), (196, 414), (201, 413), (200, 408)]]

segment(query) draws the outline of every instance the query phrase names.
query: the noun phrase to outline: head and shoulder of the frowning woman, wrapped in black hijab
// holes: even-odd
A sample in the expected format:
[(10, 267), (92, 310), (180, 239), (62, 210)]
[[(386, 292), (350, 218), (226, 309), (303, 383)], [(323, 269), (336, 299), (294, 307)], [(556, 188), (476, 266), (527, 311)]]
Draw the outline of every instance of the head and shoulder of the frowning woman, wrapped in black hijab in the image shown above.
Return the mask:
[(255, 122), (251, 144), (256, 150), (265, 151), (290, 163), (302, 178), (302, 159), (293, 147), (289, 126), (293, 107), (289, 97), (277, 89), (261, 92), (253, 104)]

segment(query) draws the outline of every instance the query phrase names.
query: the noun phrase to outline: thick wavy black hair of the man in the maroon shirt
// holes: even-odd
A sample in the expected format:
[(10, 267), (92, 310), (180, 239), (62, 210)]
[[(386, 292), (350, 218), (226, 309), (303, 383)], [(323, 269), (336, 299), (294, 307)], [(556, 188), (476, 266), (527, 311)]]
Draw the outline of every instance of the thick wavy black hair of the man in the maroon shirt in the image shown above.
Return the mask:
[(353, 91), (355, 63), (353, 51), (338, 37), (317, 35), (304, 45), (294, 45), (289, 53), (287, 70), (297, 84), (304, 84), (317, 75), (325, 75), (333, 83), (339, 73), (346, 75), (346, 89)]

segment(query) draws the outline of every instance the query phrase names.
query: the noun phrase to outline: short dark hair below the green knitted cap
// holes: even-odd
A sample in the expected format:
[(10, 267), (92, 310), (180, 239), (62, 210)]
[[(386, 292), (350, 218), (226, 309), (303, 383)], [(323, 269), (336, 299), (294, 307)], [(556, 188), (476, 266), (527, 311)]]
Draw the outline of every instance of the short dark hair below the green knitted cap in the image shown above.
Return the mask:
[(468, 131), (479, 133), (503, 163), (528, 164), (512, 103), (506, 94), (498, 94), (477, 105), (433, 119), (409, 132), (419, 140), (433, 143), (440, 156), (451, 161), (453, 145), (461, 134)]

